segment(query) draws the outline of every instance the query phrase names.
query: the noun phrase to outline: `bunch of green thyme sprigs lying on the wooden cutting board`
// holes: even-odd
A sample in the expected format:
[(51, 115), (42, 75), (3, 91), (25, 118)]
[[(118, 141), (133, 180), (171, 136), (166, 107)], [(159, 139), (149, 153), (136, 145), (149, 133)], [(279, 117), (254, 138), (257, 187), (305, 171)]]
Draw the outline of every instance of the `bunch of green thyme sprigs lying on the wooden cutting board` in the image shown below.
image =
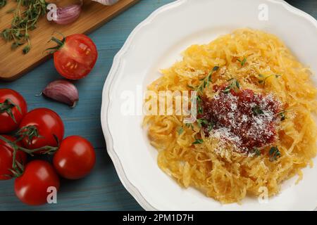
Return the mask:
[[(3, 1), (3, 0), (2, 0)], [(5, 41), (13, 41), (11, 49), (27, 44), (23, 48), (26, 54), (31, 49), (30, 30), (35, 30), (37, 21), (46, 14), (47, 3), (44, 0), (16, 0), (18, 6), (13, 12), (11, 27), (1, 32), (1, 37)]]

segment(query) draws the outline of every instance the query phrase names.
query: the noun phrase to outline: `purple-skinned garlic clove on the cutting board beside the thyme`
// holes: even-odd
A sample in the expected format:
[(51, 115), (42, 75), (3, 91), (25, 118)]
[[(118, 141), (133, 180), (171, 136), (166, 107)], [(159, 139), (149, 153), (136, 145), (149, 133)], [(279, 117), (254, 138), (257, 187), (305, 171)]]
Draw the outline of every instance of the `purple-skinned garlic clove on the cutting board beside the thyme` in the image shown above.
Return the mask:
[(56, 16), (54, 17), (54, 22), (61, 25), (73, 23), (80, 16), (81, 8), (82, 6), (80, 4), (58, 8)]

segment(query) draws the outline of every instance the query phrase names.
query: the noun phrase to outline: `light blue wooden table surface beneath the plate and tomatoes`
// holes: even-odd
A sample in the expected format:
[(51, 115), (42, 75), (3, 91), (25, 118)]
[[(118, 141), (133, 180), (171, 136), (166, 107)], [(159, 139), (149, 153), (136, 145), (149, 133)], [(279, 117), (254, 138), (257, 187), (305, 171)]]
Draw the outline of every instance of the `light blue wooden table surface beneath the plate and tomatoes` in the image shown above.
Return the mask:
[[(128, 191), (125, 191), (106, 153), (100, 124), (101, 91), (111, 68), (113, 56), (123, 46), (130, 32), (156, 8), (171, 1), (141, 0), (90, 35), (99, 50), (99, 59), (92, 73), (75, 83), (80, 91), (80, 103), (73, 110), (66, 105), (35, 96), (46, 84), (60, 78), (52, 60), (43, 63), (13, 83), (0, 83), (0, 88), (15, 89), (23, 94), (30, 110), (39, 107), (55, 110), (66, 125), (66, 136), (72, 134), (84, 136), (92, 142), (97, 153), (97, 164), (87, 178), (78, 181), (62, 180), (58, 203), (55, 205), (39, 207), (23, 205), (15, 198), (13, 180), (1, 181), (0, 210), (142, 210)], [(288, 2), (317, 18), (316, 0)]]

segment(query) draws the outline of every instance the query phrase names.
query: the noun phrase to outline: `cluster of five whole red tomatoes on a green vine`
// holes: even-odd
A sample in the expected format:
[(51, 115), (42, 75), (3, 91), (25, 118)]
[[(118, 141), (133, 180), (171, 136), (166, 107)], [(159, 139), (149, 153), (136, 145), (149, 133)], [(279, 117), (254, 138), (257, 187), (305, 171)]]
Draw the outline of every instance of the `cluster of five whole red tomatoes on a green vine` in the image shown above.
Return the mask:
[[(94, 167), (92, 144), (80, 136), (63, 136), (63, 121), (53, 110), (37, 108), (27, 113), (23, 96), (0, 89), (0, 180), (15, 177), (15, 195), (23, 203), (45, 204), (48, 188), (58, 191), (58, 174), (80, 179)], [(53, 165), (31, 157), (27, 162), (27, 154), (46, 153), (54, 154)]]

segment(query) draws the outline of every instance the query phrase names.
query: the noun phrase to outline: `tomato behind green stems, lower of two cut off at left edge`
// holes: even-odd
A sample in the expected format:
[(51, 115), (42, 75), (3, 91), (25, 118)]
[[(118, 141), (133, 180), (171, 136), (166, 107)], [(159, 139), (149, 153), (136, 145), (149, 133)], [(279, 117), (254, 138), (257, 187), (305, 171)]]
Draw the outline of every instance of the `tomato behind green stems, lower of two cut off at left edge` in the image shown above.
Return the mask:
[[(9, 141), (15, 141), (13, 136), (2, 135), (4, 138), (8, 139)], [(15, 160), (20, 162), (21, 165), (26, 164), (27, 155), (23, 152), (18, 150), (15, 155)], [(13, 148), (9, 143), (2, 141), (0, 139), (0, 180), (7, 180), (13, 177), (13, 173), (10, 169), (12, 168), (13, 162)]]

